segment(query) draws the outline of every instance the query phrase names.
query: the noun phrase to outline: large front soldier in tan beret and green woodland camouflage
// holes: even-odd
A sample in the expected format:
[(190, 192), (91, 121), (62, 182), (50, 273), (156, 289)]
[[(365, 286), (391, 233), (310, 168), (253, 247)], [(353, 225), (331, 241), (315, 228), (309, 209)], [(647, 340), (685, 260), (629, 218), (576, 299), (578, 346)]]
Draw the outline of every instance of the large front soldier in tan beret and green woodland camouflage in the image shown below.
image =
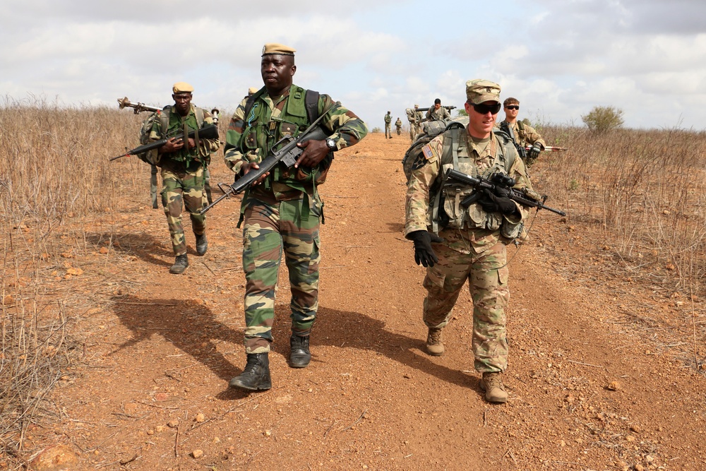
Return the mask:
[(225, 161), (236, 178), (258, 169), (258, 162), (280, 138), (299, 135), (318, 117), (323, 116), (319, 126), (328, 136), (300, 143), (304, 152), (294, 167), (275, 167), (244, 194), (247, 364), (230, 381), (234, 388), (272, 386), (268, 352), (282, 252), (292, 294), (289, 364), (293, 368), (309, 364), (309, 338), (318, 309), (319, 225), (323, 222), (317, 186), (323, 184), (335, 151), (354, 145), (368, 132), (365, 123), (339, 102), (292, 83), (297, 71), (294, 52), (283, 44), (265, 44), (260, 64), (265, 86), (241, 101), (226, 136)]

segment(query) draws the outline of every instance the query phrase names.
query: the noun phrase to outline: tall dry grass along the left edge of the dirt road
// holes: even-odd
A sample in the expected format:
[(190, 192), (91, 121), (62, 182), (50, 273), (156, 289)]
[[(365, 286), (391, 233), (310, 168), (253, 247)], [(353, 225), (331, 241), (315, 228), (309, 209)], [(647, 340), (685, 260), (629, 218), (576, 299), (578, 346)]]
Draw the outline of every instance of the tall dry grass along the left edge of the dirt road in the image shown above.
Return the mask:
[(79, 315), (49, 274), (59, 254), (85, 250), (86, 220), (110, 211), (121, 192), (144, 189), (135, 159), (108, 162), (138, 142), (140, 120), (42, 100), (0, 105), (0, 451), (8, 455), (23, 455), (32, 422), (56, 415), (46, 397), (73, 359)]

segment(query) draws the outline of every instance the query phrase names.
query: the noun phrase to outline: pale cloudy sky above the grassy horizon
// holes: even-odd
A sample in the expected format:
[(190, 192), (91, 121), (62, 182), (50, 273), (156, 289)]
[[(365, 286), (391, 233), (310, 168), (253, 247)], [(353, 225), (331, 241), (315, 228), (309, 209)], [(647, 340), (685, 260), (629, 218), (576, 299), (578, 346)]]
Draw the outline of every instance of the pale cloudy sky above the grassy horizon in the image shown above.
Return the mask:
[(629, 128), (706, 129), (704, 0), (3, 3), (0, 105), (163, 106), (186, 81), (195, 105), (229, 113), (262, 86), (263, 44), (280, 42), (297, 49), (294, 83), (371, 129), (435, 98), (462, 108), (474, 78), (533, 123), (583, 126), (609, 106)]

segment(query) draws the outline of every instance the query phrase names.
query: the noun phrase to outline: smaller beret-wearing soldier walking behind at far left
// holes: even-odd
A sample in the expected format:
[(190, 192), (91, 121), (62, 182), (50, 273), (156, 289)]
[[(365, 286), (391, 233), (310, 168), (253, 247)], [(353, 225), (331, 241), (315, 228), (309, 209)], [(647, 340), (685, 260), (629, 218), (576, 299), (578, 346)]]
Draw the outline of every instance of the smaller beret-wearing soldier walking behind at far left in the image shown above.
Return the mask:
[[(200, 129), (213, 124), (213, 117), (205, 109), (191, 104), (193, 87), (188, 83), (175, 83), (172, 87), (173, 107), (165, 107), (160, 113), (164, 119), (155, 119), (150, 132), (151, 141), (159, 141), (174, 136), (184, 129)], [(164, 126), (167, 124), (167, 126)], [(208, 249), (206, 239), (206, 217), (198, 213), (207, 204), (205, 192), (205, 171), (210, 162), (210, 154), (218, 150), (218, 139), (169, 138), (158, 148), (158, 164), (162, 167), (162, 206), (167, 215), (169, 235), (174, 249), (174, 265), (169, 273), (184, 273), (189, 266), (186, 255), (186, 238), (181, 226), (181, 209), (191, 217), (191, 229), (196, 236), (196, 253), (203, 255)]]

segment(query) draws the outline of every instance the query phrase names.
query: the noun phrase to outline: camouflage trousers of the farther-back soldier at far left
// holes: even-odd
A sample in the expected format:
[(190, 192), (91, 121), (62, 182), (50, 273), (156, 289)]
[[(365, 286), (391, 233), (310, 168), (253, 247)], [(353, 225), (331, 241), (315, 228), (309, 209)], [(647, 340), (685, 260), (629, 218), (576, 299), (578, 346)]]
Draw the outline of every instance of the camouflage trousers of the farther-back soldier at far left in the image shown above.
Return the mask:
[(162, 167), (162, 206), (167, 215), (174, 255), (186, 254), (184, 227), (181, 226), (182, 206), (191, 217), (193, 233), (201, 235), (206, 230), (206, 216), (198, 214), (198, 210), (205, 205), (203, 167), (198, 167), (194, 172), (187, 172), (178, 165)]

